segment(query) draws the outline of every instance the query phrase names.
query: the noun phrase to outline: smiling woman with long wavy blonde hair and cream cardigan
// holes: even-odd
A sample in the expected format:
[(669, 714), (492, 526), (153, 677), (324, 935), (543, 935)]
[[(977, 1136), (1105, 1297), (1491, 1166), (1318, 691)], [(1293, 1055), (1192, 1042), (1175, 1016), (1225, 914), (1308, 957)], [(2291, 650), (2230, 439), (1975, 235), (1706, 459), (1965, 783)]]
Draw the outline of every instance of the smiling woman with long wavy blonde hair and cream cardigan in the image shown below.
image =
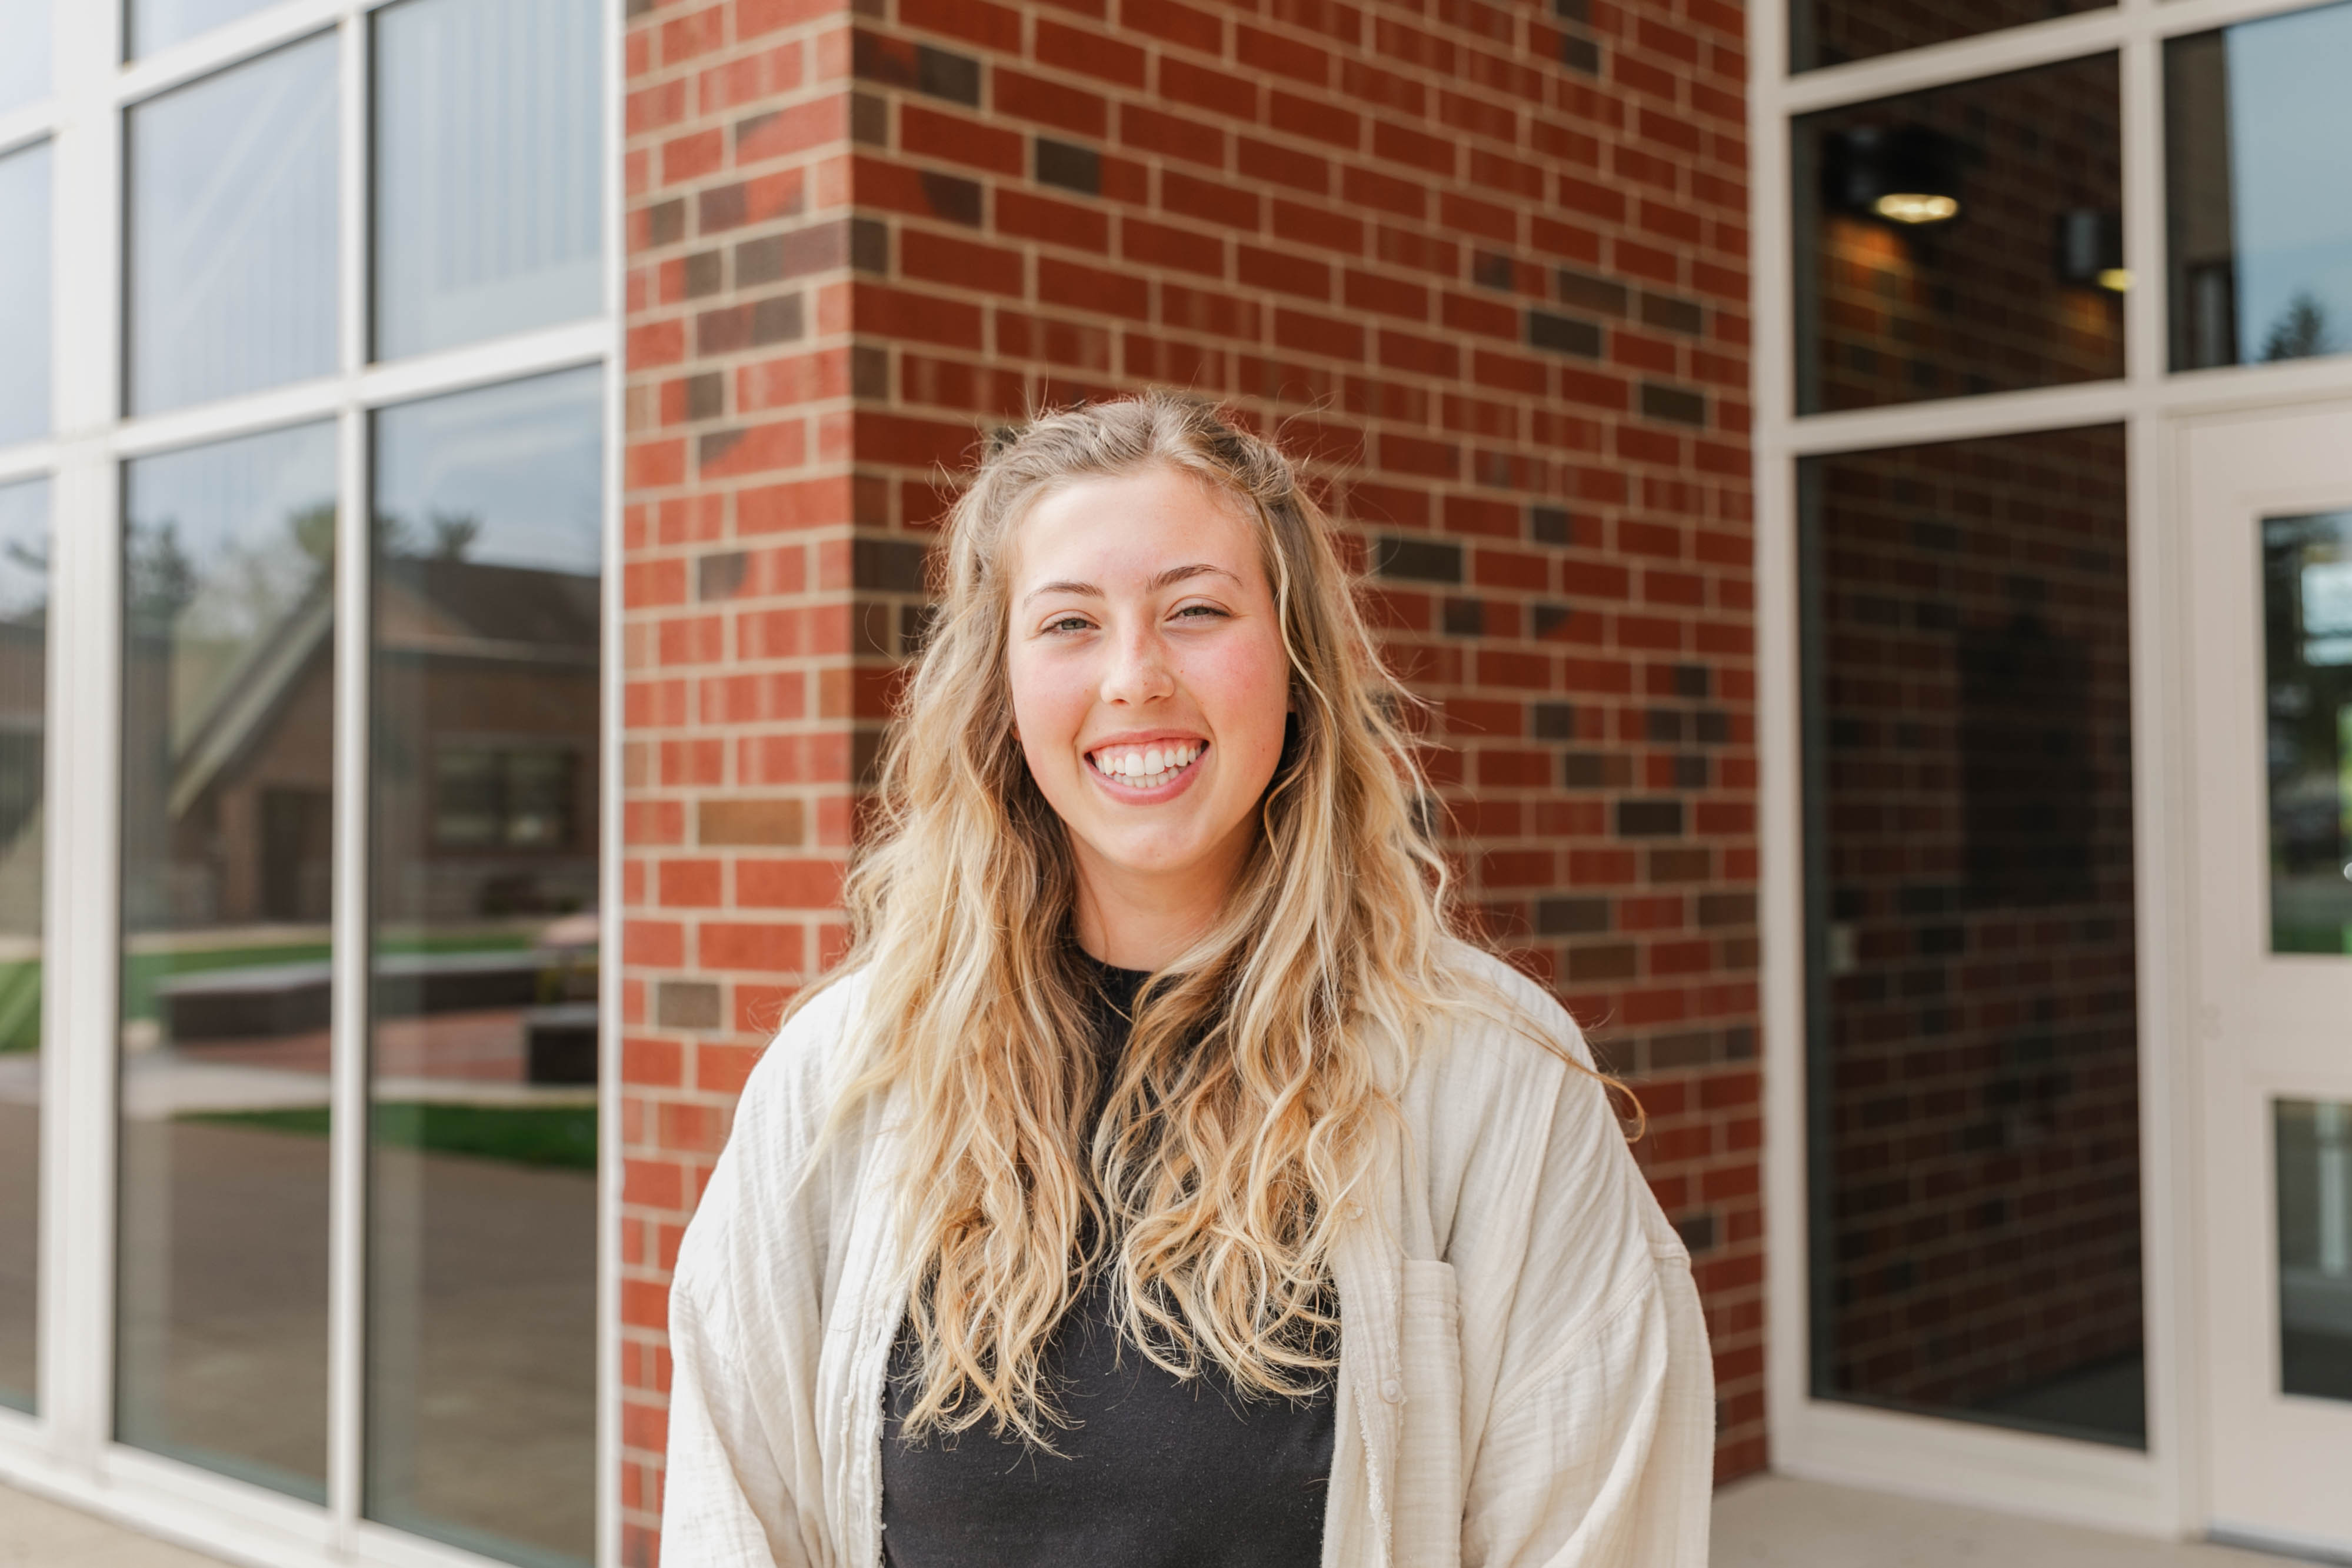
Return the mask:
[(670, 1295), (668, 1568), (1700, 1568), (1689, 1258), (1465, 943), (1334, 536), (1152, 393), (955, 505)]

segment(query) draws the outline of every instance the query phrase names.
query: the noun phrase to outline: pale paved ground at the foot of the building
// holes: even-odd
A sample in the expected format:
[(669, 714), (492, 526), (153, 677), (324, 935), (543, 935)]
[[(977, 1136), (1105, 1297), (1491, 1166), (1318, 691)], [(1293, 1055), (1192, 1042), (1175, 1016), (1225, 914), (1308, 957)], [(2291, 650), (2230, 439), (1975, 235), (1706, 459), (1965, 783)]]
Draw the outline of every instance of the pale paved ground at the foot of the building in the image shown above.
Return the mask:
[[(1715, 1568), (2284, 1568), (2286, 1559), (2030, 1523), (1759, 1476), (1715, 1502)], [(0, 1568), (219, 1568), (0, 1486)]]

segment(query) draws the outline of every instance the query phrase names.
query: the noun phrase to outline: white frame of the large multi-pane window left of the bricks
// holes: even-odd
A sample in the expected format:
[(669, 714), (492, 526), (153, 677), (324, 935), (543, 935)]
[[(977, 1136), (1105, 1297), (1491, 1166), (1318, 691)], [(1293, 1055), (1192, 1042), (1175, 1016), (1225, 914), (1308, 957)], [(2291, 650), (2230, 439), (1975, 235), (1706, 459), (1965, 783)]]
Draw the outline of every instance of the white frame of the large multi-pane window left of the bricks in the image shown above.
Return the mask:
[[(595, 1561), (619, 1563), (619, 985), (621, 952), (621, 0), (600, 7), (602, 313), (367, 362), (372, 12), (397, 0), (280, 0), (122, 63), (120, 0), (52, 0), (52, 92), (0, 115), (0, 155), (52, 148), (52, 435), (0, 447), (0, 484), (49, 480), (47, 976), (42, 1009), (40, 1401), (0, 1408), (0, 1481), (268, 1568), (480, 1568), (492, 1559), (360, 1516), (367, 1182), (367, 562), (376, 409), (604, 367), (602, 1060), (597, 1077)], [(336, 371), (191, 409), (122, 416), (125, 110), (287, 42), (339, 38)], [(327, 1507), (113, 1441), (120, 473), (153, 451), (292, 423), (336, 425), (334, 1135), (329, 1154)], [(259, 1392), (266, 1396), (266, 1389)]]

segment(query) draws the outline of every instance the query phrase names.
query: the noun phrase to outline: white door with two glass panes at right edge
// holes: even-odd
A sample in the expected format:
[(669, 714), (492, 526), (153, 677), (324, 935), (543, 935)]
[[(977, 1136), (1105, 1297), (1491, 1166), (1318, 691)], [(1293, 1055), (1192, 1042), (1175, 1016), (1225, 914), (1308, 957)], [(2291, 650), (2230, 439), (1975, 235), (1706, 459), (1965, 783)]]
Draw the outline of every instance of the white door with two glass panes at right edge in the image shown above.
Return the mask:
[(2185, 440), (2218, 1537), (2352, 1552), (2352, 407)]

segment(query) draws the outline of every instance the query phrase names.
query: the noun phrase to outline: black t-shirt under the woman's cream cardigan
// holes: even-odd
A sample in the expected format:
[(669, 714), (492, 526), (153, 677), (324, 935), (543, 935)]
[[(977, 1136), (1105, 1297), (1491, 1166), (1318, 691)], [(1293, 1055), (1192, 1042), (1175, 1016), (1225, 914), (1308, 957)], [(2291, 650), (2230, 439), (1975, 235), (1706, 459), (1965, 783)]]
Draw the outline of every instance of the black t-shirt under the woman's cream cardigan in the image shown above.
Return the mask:
[[(1091, 964), (1098, 1046), (1127, 1044), (1145, 976)], [(1192, 1382), (1122, 1345), (1110, 1281), (1087, 1281), (1044, 1349), (1075, 1422), (1044, 1453), (985, 1425), (908, 1443), (915, 1338), (901, 1324), (882, 1410), (889, 1568), (1315, 1568), (1331, 1481), (1331, 1389), (1244, 1399), (1214, 1361)]]

